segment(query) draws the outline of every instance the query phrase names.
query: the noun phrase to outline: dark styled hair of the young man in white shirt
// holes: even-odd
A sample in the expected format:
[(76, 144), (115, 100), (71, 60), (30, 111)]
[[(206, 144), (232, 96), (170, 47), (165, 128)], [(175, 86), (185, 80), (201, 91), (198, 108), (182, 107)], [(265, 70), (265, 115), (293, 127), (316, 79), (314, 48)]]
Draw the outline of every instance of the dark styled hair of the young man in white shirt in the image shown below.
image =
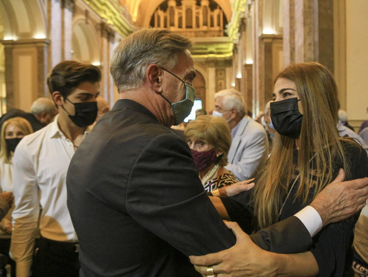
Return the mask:
[(82, 64), (78, 61), (62, 61), (57, 64), (47, 77), (47, 85), (52, 94), (59, 91), (64, 97), (70, 93), (82, 82), (101, 81), (101, 71), (92, 64)]

